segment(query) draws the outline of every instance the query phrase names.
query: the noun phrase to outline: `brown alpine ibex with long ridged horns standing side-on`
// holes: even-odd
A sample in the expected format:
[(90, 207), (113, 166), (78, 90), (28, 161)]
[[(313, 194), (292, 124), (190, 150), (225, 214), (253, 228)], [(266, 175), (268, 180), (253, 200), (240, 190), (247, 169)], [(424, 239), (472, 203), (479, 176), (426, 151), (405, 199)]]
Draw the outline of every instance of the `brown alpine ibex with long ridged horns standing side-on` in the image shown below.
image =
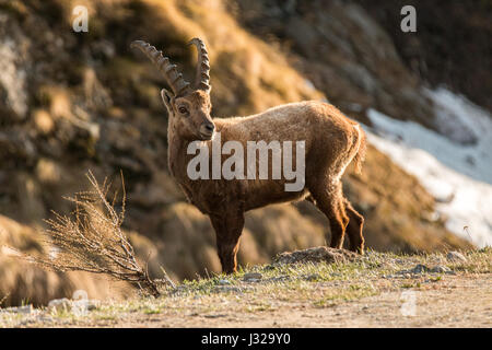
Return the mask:
[[(133, 42), (131, 47), (139, 48), (149, 57), (173, 90), (161, 91), (168, 112), (169, 171), (188, 200), (210, 217), (222, 270), (227, 273), (236, 270), (236, 253), (246, 211), (301, 199), (313, 201), (329, 219), (331, 247), (342, 247), (347, 229), (350, 249), (363, 254), (364, 219), (343, 197), (340, 182), (352, 160), (360, 171), (364, 159), (365, 135), (359, 124), (332, 105), (317, 101), (291, 103), (247, 117), (212, 119), (207, 48), (199, 38), (194, 38), (189, 44), (198, 50), (194, 85), (186, 82), (176, 66), (155, 47), (142, 40)], [(187, 173), (192, 159), (188, 154), (190, 143), (199, 142), (212, 151), (216, 133), (220, 133), (221, 144), (234, 140), (245, 148), (248, 141), (302, 141), (305, 156), (305, 183), (302, 189), (286, 191), (285, 176), (280, 179), (191, 179)], [(221, 161), (224, 160), (224, 155), (221, 155)], [(210, 165), (213, 165), (212, 161)], [(273, 172), (271, 165), (269, 172)]]

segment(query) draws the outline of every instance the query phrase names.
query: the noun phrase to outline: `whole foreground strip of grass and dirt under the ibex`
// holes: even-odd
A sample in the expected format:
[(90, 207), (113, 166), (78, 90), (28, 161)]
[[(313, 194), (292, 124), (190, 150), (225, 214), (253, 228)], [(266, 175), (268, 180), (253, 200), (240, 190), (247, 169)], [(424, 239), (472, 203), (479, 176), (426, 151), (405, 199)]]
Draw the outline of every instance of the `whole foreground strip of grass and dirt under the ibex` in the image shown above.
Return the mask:
[[(1, 327), (491, 327), (492, 249), (271, 264), (184, 281), (163, 296), (0, 312)], [(414, 308), (411, 303), (414, 302)]]

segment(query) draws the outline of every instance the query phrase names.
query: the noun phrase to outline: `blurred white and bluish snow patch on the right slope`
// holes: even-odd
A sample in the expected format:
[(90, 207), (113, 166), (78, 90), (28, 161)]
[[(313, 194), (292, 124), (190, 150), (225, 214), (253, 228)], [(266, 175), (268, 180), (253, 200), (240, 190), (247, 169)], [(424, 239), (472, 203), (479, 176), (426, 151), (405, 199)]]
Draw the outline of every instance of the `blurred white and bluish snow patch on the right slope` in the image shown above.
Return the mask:
[[(453, 130), (453, 138), (370, 109), (374, 128), (365, 127), (367, 139), (437, 199), (436, 210), (447, 218), (449, 231), (479, 247), (492, 245), (492, 117), (445, 89), (424, 93), (434, 102), (438, 122)], [(470, 135), (477, 143), (452, 141)]]

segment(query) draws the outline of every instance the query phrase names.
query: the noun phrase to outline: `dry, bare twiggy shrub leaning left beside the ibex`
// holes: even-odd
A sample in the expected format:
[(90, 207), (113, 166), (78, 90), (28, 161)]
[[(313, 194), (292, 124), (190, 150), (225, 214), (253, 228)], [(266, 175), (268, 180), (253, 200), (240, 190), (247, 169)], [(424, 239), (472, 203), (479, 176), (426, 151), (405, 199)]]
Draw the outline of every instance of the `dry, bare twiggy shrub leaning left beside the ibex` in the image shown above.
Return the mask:
[[(93, 190), (66, 198), (75, 205), (75, 210), (70, 215), (54, 212), (55, 219), (46, 220), (49, 225), (46, 252), (50, 252), (49, 255), (20, 253), (20, 256), (48, 270), (104, 273), (134, 283), (142, 292), (159, 296), (161, 280), (152, 280), (147, 267), (137, 261), (134, 249), (121, 230), (126, 205), (122, 176), (119, 211), (116, 209), (117, 191), (112, 201), (106, 199), (110, 189), (107, 179), (99, 185), (92, 172), (86, 176)], [(169, 279), (166, 282), (173, 285)]]

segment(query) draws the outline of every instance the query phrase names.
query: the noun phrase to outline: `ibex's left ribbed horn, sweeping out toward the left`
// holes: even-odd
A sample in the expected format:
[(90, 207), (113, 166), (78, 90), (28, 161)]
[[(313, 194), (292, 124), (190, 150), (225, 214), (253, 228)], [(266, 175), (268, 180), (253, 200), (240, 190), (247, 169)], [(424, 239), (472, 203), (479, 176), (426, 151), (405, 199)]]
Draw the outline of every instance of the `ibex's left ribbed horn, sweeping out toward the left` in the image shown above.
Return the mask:
[(131, 48), (139, 48), (163, 73), (171, 89), (176, 96), (190, 92), (189, 83), (183, 78), (176, 69), (176, 65), (171, 63), (167, 57), (162, 55), (154, 46), (143, 40), (136, 40), (130, 44)]

